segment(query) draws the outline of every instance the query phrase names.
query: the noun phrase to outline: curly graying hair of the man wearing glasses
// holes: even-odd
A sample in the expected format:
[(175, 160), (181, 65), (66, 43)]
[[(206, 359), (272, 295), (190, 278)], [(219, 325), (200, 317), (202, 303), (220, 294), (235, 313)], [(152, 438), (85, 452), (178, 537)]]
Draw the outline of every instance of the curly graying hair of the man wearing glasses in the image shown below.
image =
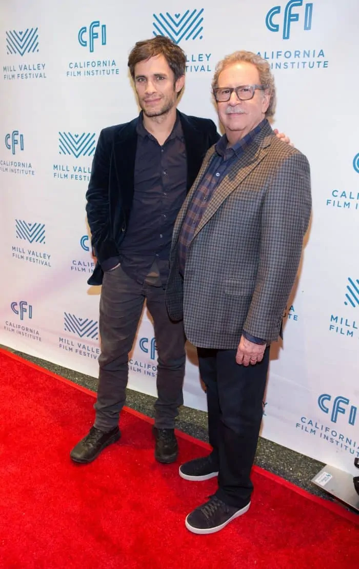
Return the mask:
[(270, 101), (266, 112), (266, 117), (273, 117), (275, 112), (275, 104), (277, 102), (277, 98), (275, 96), (274, 76), (271, 72), (270, 64), (268, 61), (257, 55), (257, 53), (253, 53), (252, 51), (235, 51), (230, 55), (226, 55), (226, 57), (221, 61), (218, 61), (212, 80), (212, 90), (218, 86), (218, 76), (220, 73), (226, 67), (229, 67), (229, 65), (239, 63), (240, 61), (246, 61), (246, 63), (251, 63), (257, 67), (259, 73), (259, 83), (261, 85), (265, 85), (266, 89), (270, 93)]

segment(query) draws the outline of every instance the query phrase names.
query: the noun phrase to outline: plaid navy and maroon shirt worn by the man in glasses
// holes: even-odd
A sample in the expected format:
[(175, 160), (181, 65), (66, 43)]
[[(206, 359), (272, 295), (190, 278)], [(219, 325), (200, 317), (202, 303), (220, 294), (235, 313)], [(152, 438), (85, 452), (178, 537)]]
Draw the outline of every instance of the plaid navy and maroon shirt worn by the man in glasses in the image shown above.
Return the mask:
[[(191, 244), (193, 234), (195, 233), (196, 227), (207, 208), (209, 200), (211, 200), (213, 192), (217, 188), (218, 184), (222, 182), (226, 174), (228, 174), (236, 160), (238, 160), (238, 158), (249, 147), (251, 142), (253, 142), (255, 135), (262, 130), (266, 123), (267, 119), (265, 118), (259, 123), (259, 125), (251, 130), (250, 133), (246, 134), (244, 138), (231, 147), (227, 148), (228, 139), (225, 134), (217, 142), (216, 153), (213, 154), (211, 162), (208, 164), (207, 171), (192, 196), (191, 203), (188, 206), (187, 215), (184, 218), (179, 234), (179, 271), (182, 276), (184, 275), (184, 265), (188, 247)], [(254, 338), (254, 336), (246, 335), (246, 337), (248, 340), (255, 341), (255, 343), (258, 344), (265, 343), (265, 340)]]

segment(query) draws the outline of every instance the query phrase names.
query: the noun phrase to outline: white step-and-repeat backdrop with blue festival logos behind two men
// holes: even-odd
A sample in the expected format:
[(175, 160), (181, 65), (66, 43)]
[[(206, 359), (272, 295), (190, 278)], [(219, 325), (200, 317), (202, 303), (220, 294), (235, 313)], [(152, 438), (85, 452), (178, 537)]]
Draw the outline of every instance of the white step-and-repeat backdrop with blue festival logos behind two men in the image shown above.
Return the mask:
[[(277, 0), (278, 1), (278, 0)], [(192, 0), (191, 0), (192, 2)], [(0, 2), (0, 343), (97, 376), (100, 288), (85, 192), (102, 127), (137, 115), (127, 56), (168, 35), (187, 54), (180, 109), (217, 121), (211, 79), (236, 50), (271, 64), (274, 126), (308, 156), (313, 216), (273, 346), (266, 438), (354, 472), (359, 456), (357, 0)], [(156, 346), (143, 313), (129, 364), (155, 394)], [(205, 409), (188, 348), (185, 404)]]

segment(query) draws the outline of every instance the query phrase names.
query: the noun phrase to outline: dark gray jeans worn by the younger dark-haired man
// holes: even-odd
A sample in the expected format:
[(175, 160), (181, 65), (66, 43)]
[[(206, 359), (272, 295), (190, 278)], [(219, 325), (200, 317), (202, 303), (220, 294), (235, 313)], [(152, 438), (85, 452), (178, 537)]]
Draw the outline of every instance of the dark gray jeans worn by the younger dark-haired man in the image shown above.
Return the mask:
[(118, 424), (125, 404), (128, 361), (143, 303), (154, 320), (158, 352), (155, 426), (174, 428), (178, 407), (183, 405), (185, 336), (183, 322), (172, 322), (164, 302), (164, 288), (151, 278), (139, 284), (118, 266), (106, 271), (100, 299), (101, 354), (94, 426), (109, 431)]

